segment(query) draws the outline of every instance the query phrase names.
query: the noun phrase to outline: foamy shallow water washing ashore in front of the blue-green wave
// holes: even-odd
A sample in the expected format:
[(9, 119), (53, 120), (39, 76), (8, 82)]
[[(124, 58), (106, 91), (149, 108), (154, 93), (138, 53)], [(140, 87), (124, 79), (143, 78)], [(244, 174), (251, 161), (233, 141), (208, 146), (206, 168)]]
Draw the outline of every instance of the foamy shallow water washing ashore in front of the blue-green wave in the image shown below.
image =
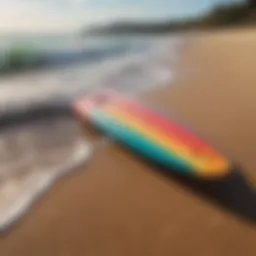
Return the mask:
[[(70, 108), (77, 96), (104, 88), (138, 94), (170, 84), (179, 39), (155, 40), (152, 44), (154, 47), (145, 51), (91, 65), (0, 80), (0, 208), (4, 209), (0, 231), (26, 213), (58, 177), (93, 156), (93, 147), (79, 130)], [(12, 166), (12, 162), (17, 165)]]

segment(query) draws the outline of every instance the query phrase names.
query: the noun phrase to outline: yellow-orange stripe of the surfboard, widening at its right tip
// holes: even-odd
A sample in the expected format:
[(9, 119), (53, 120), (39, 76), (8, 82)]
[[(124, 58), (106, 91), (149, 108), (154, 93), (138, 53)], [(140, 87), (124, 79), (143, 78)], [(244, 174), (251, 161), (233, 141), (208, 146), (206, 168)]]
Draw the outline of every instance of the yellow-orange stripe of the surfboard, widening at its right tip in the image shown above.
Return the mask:
[(138, 130), (148, 139), (153, 140), (155, 143), (158, 143), (165, 149), (174, 152), (183, 160), (188, 161), (197, 170), (214, 171), (216, 168), (217, 169), (222, 168), (226, 165), (224, 159), (217, 156), (216, 156), (217, 159), (216, 158), (207, 159), (204, 157), (201, 157), (201, 158), (198, 157), (198, 159), (192, 158), (191, 155), (189, 154), (189, 151), (184, 146), (181, 146), (181, 144), (175, 142), (174, 140), (165, 136), (164, 134), (157, 132), (157, 130), (154, 129), (152, 126), (143, 125), (143, 123), (140, 120), (134, 118), (128, 112), (124, 113), (112, 106), (106, 107), (106, 110), (115, 118), (119, 119), (121, 122), (128, 125), (130, 128)]

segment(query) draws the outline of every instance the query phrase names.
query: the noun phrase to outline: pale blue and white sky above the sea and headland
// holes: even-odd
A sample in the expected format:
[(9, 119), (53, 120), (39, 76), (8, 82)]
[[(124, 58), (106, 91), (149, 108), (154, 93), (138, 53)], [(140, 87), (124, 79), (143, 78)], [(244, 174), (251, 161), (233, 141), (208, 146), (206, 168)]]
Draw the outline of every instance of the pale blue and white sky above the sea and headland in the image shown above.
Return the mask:
[(70, 32), (116, 20), (181, 19), (242, 0), (0, 0), (0, 33)]

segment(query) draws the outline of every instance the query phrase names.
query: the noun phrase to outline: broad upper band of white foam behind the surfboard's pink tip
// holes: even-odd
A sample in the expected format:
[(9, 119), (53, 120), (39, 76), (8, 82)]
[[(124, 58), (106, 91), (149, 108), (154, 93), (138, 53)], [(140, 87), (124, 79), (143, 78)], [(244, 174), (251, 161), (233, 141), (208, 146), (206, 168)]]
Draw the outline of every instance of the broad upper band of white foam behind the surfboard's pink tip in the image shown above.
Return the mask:
[[(155, 40), (151, 51), (133, 53), (91, 65), (43, 71), (0, 80), (0, 109), (18, 102), (56, 101), (72, 98), (88, 90), (113, 87), (141, 91), (161, 86), (163, 73), (172, 79), (170, 66), (178, 52), (178, 38)], [(167, 61), (168, 59), (168, 61)], [(168, 76), (166, 73), (169, 72)], [(168, 81), (167, 81), (168, 82)], [(147, 88), (148, 86), (148, 88)]]

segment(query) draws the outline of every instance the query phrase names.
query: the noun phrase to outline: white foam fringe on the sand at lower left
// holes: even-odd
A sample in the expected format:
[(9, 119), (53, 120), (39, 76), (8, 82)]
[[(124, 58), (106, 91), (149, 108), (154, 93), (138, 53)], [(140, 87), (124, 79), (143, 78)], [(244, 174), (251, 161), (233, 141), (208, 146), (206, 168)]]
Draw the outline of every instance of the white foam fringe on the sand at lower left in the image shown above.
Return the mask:
[(91, 156), (89, 144), (77, 144), (73, 154), (55, 167), (38, 168), (12, 175), (0, 183), (0, 231), (6, 230), (24, 215), (33, 202), (63, 175), (77, 169)]

